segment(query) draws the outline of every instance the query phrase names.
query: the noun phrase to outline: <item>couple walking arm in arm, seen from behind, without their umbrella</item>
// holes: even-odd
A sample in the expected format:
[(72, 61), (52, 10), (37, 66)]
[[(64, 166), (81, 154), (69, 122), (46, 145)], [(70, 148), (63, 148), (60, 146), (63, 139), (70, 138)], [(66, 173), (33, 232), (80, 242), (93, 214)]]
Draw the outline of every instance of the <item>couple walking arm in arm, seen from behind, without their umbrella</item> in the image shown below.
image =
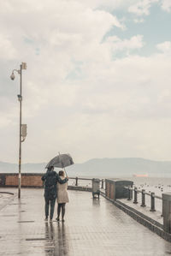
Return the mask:
[(56, 220), (60, 220), (60, 213), (62, 210), (62, 222), (64, 222), (65, 205), (68, 203), (68, 177), (65, 177), (63, 170), (60, 170), (59, 174), (57, 174), (56, 171), (54, 171), (54, 166), (50, 166), (41, 179), (44, 182), (45, 221), (48, 221), (49, 206), (50, 221), (52, 221), (57, 201)]

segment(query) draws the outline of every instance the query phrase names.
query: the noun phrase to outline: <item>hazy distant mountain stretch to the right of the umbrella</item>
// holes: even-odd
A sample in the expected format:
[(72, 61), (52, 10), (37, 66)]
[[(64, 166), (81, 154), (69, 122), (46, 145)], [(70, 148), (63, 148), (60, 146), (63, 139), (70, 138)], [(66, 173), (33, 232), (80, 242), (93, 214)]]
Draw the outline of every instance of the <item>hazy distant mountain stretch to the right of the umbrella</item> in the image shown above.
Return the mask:
[(95, 158), (84, 164), (74, 164), (69, 167), (70, 173), (85, 176), (133, 176), (147, 174), (148, 176), (170, 176), (171, 161), (151, 161), (144, 158)]

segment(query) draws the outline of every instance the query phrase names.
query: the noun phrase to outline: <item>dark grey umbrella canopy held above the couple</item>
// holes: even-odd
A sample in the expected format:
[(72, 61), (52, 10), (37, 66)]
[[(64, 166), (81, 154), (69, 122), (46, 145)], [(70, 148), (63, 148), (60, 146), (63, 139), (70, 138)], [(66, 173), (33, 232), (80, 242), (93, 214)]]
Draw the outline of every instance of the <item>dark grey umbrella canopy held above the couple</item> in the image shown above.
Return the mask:
[(52, 158), (45, 168), (49, 168), (50, 166), (65, 168), (72, 164), (74, 164), (74, 161), (69, 154), (59, 154), (55, 158)]

